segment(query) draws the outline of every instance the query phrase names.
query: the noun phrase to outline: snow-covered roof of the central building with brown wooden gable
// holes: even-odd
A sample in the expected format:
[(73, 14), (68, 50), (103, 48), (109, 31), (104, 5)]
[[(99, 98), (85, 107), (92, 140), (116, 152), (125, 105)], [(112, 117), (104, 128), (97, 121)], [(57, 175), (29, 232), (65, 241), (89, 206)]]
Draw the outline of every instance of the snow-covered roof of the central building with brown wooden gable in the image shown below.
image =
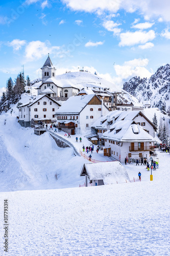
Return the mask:
[(79, 114), (95, 94), (72, 96), (56, 111), (56, 114)]

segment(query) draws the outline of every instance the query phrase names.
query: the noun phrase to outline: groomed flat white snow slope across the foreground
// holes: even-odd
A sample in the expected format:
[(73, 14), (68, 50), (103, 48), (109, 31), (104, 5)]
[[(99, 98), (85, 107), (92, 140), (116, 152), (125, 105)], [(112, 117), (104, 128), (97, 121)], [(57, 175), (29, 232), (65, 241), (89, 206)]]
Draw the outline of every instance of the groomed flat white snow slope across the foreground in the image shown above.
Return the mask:
[(169, 158), (159, 153), (153, 181), (145, 166), (130, 164), (129, 175), (140, 170), (141, 182), (1, 193), (1, 209), (9, 200), (10, 240), (0, 254), (168, 256)]

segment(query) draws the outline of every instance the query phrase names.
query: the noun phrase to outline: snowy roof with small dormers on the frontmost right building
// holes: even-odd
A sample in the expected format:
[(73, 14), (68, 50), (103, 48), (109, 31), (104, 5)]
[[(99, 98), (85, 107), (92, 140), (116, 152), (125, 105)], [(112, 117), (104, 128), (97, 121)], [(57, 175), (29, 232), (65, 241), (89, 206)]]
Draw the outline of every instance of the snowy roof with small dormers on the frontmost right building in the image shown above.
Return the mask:
[(155, 142), (155, 139), (145, 132), (142, 127), (131, 120), (120, 120), (115, 122), (111, 129), (106, 131), (102, 138), (111, 139), (120, 142), (149, 141)]

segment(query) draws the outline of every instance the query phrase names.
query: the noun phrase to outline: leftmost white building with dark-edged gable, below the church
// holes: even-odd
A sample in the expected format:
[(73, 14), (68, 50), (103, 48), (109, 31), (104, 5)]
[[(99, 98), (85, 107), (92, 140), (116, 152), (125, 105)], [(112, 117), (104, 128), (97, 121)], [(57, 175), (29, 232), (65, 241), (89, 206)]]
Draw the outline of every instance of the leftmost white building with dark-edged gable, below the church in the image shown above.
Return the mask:
[(31, 126), (31, 121), (55, 120), (55, 112), (60, 104), (47, 95), (38, 95), (31, 102), (18, 106), (19, 123), (21, 126)]

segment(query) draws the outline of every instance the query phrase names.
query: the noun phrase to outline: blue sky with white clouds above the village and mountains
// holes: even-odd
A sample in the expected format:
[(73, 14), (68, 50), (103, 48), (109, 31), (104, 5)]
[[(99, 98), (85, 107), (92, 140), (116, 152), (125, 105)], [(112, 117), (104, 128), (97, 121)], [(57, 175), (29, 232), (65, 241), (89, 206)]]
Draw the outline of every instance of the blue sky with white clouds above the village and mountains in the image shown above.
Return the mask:
[(169, 63), (169, 0), (0, 0), (0, 93), (9, 77), (91, 73), (123, 87)]

